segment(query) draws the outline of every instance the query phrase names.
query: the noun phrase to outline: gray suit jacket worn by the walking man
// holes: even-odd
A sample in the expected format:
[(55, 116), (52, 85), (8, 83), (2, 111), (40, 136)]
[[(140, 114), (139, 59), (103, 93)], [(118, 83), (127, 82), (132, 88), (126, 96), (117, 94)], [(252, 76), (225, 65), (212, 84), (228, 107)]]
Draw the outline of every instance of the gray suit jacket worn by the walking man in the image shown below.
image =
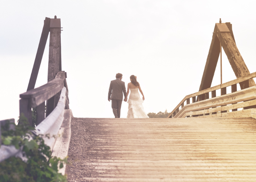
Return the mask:
[[(123, 100), (123, 92), (124, 97), (126, 96), (126, 88), (123, 81), (120, 79), (112, 80), (109, 86), (109, 95), (108, 99), (117, 99)], [(111, 96), (111, 97), (110, 97)]]

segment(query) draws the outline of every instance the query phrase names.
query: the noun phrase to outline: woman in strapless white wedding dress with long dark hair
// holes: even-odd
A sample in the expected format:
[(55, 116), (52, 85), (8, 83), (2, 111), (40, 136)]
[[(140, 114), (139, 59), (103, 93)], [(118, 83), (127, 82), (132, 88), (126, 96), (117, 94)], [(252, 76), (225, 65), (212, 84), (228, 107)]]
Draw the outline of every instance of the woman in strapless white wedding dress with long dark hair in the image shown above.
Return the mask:
[[(132, 75), (132, 76), (130, 76), (130, 80), (131, 80), (131, 82), (128, 83), (127, 93), (124, 98), (124, 101), (127, 101), (129, 90), (131, 90), (129, 100), (127, 102), (129, 104), (127, 118), (149, 118), (142, 106), (143, 100), (145, 98), (144, 98), (143, 92), (140, 88), (140, 84), (139, 84), (139, 82), (137, 82), (137, 77)], [(139, 94), (138, 90), (142, 94), (143, 100), (140, 98), (140, 94)]]

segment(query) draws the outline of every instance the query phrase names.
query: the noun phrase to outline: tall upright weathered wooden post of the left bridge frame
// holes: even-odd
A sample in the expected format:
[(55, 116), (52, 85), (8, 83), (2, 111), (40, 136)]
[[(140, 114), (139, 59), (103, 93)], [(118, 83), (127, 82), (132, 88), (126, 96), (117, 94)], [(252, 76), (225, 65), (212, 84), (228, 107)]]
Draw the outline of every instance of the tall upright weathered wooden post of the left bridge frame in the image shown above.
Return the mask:
[[(53, 80), (60, 71), (61, 65), (61, 44), (60, 44), (60, 19), (54, 16), (50, 21), (50, 43), (49, 43), (49, 64), (48, 64), (48, 82)], [(48, 116), (56, 107), (59, 100), (59, 93), (50, 98), (47, 102), (46, 116)]]

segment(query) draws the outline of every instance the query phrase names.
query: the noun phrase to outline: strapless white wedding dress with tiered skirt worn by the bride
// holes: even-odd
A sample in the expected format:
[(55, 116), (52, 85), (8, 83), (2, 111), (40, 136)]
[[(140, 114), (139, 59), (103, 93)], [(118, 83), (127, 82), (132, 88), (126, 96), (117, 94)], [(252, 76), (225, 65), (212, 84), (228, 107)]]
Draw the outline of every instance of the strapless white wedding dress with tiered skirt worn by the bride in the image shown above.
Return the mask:
[(144, 101), (140, 98), (138, 90), (139, 88), (130, 88), (131, 93), (127, 101), (129, 104), (127, 118), (149, 118), (142, 106)]

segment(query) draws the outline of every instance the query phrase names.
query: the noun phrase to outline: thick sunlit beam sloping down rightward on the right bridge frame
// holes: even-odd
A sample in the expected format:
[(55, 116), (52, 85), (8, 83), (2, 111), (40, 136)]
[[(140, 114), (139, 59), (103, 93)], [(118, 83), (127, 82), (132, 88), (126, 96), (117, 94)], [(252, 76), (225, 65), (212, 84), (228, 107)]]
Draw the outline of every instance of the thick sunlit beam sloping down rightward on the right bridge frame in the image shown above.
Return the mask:
[[(223, 50), (225, 51), (227, 55), (227, 59), (229, 60), (229, 63), (236, 75), (237, 78), (240, 78), (242, 76), (249, 75), (250, 72), (245, 65), (245, 62), (238, 51), (238, 48), (236, 46), (235, 41), (233, 40), (233, 37), (231, 36), (230, 32), (220, 32), (217, 30), (218, 33), (218, 39), (221, 42), (221, 45), (223, 47)], [(249, 80), (249, 87), (255, 86), (255, 82), (253, 79)]]

